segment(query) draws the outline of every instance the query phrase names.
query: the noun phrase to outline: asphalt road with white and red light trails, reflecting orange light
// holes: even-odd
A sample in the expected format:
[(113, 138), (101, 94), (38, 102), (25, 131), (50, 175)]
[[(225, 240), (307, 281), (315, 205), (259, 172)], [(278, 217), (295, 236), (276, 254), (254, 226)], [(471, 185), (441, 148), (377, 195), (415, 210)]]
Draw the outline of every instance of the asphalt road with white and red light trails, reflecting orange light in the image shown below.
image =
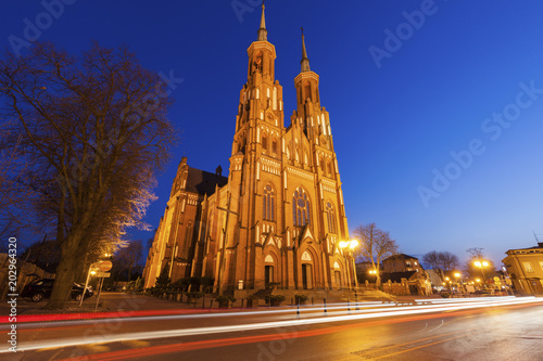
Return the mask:
[(119, 312), (96, 320), (20, 323), (20, 351), (0, 359), (543, 360), (543, 299), (526, 300), (332, 305), (326, 315), (321, 307), (299, 315), (295, 308), (216, 313), (178, 304), (155, 311), (152, 300), (125, 299)]

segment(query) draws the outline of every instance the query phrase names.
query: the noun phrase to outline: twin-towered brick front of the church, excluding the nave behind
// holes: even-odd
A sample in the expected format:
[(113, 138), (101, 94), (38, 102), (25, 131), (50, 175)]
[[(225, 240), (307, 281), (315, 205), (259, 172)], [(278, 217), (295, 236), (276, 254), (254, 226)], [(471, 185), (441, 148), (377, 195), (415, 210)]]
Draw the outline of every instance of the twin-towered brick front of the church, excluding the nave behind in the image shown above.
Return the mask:
[(319, 77), (311, 70), (302, 30), (298, 108), (286, 128), (264, 9), (240, 91), (225, 210), (227, 244), (217, 261), (216, 289), (349, 287), (355, 283), (354, 263), (339, 248), (349, 231)]

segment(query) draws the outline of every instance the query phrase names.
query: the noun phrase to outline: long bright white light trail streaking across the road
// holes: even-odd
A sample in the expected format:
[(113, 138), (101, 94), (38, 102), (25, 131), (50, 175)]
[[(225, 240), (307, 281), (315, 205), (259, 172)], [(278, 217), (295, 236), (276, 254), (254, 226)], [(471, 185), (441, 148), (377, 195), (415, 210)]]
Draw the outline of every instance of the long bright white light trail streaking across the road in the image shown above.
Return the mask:
[[(325, 324), (342, 321), (353, 321), (353, 320), (368, 320), (378, 319), (387, 317), (397, 317), (397, 315), (412, 315), (412, 314), (424, 314), (453, 310), (468, 310), (477, 308), (490, 308), (498, 306), (514, 306), (514, 305), (530, 305), (530, 304), (542, 304), (543, 299), (536, 299), (535, 297), (526, 297), (518, 299), (506, 299), (506, 300), (484, 300), (484, 301), (473, 301), (473, 302), (458, 302), (455, 305), (430, 305), (430, 306), (415, 306), (415, 307), (399, 307), (399, 310), (383, 309), (383, 310), (364, 310), (354, 311), (349, 315), (328, 315), (318, 317), (313, 319), (300, 319), (290, 321), (273, 321), (273, 322), (260, 322), (252, 324), (239, 324), (239, 325), (226, 325), (226, 326), (213, 326), (213, 327), (193, 327), (193, 328), (176, 328), (167, 331), (153, 331), (153, 332), (138, 332), (138, 333), (125, 333), (122, 335), (108, 335), (105, 337), (87, 337), (86, 339), (80, 338), (67, 338), (63, 340), (40, 340), (29, 343), (17, 349), (21, 351), (29, 351), (37, 349), (50, 349), (50, 348), (61, 348), (61, 347), (74, 347), (88, 344), (111, 344), (127, 340), (141, 340), (141, 339), (159, 339), (168, 337), (184, 337), (184, 336), (195, 336), (195, 335), (210, 335), (210, 334), (220, 334), (220, 333), (232, 333), (232, 332), (244, 332), (254, 330), (266, 330), (274, 327), (291, 327), (291, 326), (304, 326), (313, 324)], [(231, 314), (231, 313), (230, 313)], [(5, 353), (8, 350), (0, 350), (0, 353)]]

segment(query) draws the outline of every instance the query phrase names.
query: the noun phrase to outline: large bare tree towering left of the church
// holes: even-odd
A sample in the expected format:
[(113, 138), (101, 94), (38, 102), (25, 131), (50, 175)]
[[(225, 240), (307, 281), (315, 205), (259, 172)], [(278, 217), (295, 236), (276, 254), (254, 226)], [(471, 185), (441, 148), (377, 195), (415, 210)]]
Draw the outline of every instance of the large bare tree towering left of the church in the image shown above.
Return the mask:
[(3, 129), (21, 137), (24, 185), (62, 248), (49, 307), (63, 306), (93, 249), (146, 227), (154, 173), (175, 141), (168, 86), (125, 49), (97, 43), (79, 57), (36, 43), (0, 59), (0, 116), (16, 120)]

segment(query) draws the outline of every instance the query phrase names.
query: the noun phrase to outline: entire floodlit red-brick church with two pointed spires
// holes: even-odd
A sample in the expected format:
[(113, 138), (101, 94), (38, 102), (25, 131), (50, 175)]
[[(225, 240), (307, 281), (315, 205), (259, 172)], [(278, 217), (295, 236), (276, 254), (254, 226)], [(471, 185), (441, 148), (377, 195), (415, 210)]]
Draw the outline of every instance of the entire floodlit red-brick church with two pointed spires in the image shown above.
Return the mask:
[(330, 116), (320, 104), (303, 31), (298, 107), (288, 127), (264, 5), (248, 55), (228, 177), (220, 167), (213, 173), (181, 159), (149, 252), (144, 287), (167, 272), (172, 281), (209, 276), (214, 293), (238, 296), (265, 288), (352, 289), (356, 272), (345, 247)]

